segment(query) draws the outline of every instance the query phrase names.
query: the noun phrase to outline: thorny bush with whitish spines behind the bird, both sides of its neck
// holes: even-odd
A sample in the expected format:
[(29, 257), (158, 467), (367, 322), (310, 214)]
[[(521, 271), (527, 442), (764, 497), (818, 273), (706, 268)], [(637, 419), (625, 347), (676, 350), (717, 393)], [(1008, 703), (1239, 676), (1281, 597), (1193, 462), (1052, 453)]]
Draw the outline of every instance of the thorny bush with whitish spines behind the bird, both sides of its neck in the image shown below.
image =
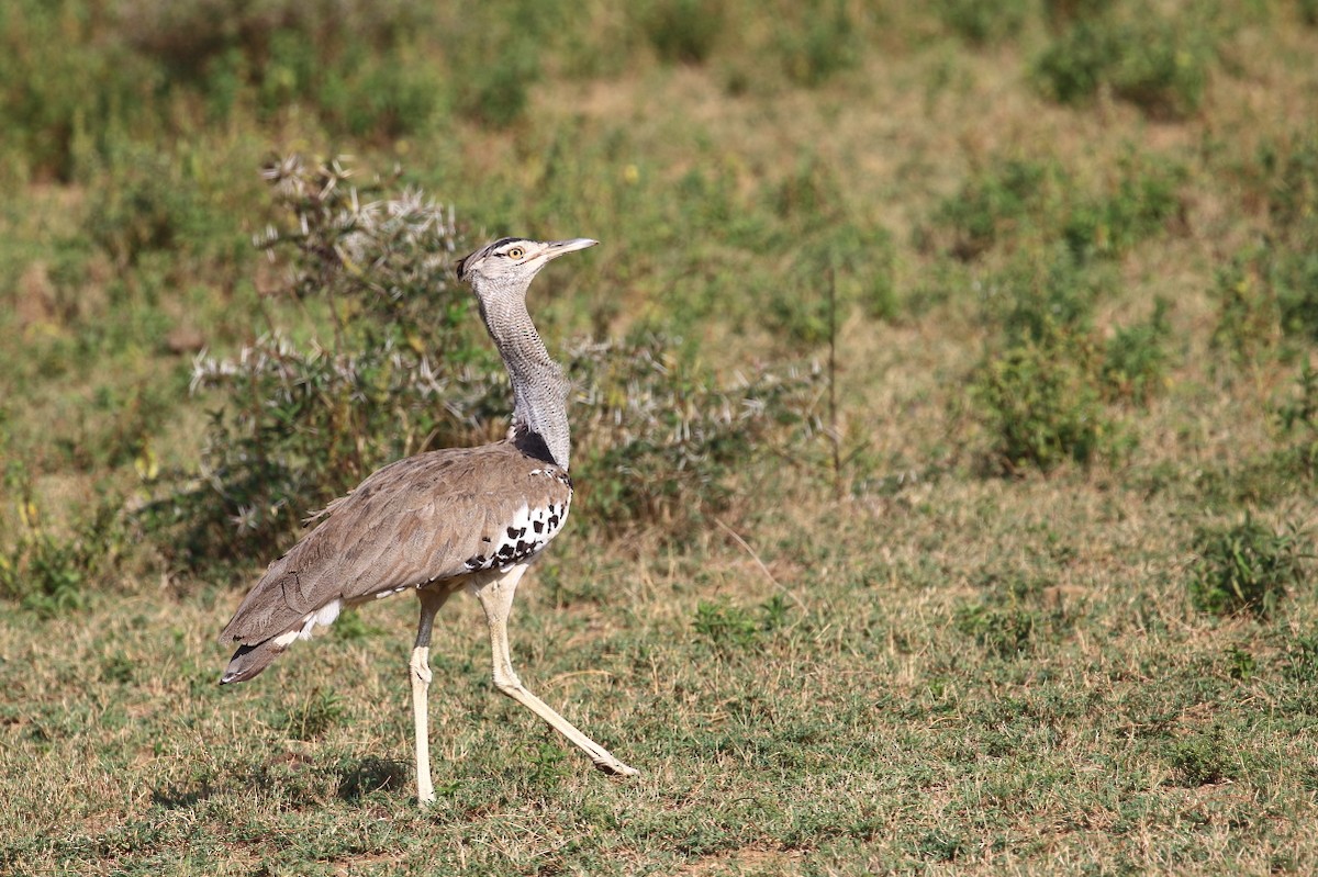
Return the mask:
[[(194, 392), (217, 400), (199, 477), (175, 473), (142, 516), (175, 565), (270, 557), (299, 521), (399, 457), (501, 436), (507, 378), (449, 269), (451, 209), (420, 192), (349, 184), (340, 162), (298, 157), (265, 169), (283, 216), (256, 237), (282, 259), (277, 295), (303, 300), (328, 341), (277, 325), (219, 358), (203, 353)], [(273, 320), (272, 320), (273, 323)], [(817, 435), (817, 370), (767, 370), (720, 386), (676, 345), (569, 345), (576, 383), (579, 515), (610, 531), (681, 536), (725, 507), (759, 450)]]

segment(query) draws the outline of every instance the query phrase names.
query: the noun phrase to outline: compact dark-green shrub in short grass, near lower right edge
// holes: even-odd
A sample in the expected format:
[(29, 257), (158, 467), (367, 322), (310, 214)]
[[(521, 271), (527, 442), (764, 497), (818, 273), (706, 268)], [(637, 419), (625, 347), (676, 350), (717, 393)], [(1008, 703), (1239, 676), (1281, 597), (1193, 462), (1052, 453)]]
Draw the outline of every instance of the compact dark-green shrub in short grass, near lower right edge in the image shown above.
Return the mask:
[(1190, 600), (1211, 615), (1271, 615), (1286, 587), (1304, 582), (1311, 541), (1300, 529), (1277, 533), (1246, 515), (1239, 524), (1202, 527), (1194, 535)]

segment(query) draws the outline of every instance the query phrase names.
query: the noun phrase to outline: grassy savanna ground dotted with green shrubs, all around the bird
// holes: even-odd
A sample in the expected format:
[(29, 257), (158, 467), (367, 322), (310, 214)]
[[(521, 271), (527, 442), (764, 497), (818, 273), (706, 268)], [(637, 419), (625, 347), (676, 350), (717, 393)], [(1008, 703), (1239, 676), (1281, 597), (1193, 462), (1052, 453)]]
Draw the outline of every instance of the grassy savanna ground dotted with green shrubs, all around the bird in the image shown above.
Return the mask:
[[(207, 4), (13, 5), (0, 872), (1318, 866), (1305, 9), (273, 3), (212, 33)], [(250, 246), (297, 236), (257, 173), (293, 151), (352, 154), (345, 184), (401, 165), (459, 249), (604, 242), (531, 294), (551, 350), (609, 344), (511, 637), (639, 777), (494, 691), (467, 599), (434, 637), (426, 812), (409, 599), (215, 685), (277, 549), (185, 564), (144, 527), (236, 398), (190, 394), (194, 358), (340, 350), (376, 307)], [(478, 365), (391, 252), (403, 323), (453, 316)], [(399, 411), (290, 460), (430, 416)]]

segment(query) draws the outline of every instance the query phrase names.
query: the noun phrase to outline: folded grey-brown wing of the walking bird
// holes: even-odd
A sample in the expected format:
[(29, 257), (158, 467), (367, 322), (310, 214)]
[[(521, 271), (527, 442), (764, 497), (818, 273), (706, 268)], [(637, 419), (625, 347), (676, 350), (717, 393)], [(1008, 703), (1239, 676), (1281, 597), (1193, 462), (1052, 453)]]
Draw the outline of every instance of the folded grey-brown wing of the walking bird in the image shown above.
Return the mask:
[(565, 473), (511, 442), (399, 460), (333, 500), (326, 520), (270, 564), (220, 641), (258, 643), (336, 599), (471, 573), (468, 561), (490, 557), (522, 506), (565, 508), (569, 496)]

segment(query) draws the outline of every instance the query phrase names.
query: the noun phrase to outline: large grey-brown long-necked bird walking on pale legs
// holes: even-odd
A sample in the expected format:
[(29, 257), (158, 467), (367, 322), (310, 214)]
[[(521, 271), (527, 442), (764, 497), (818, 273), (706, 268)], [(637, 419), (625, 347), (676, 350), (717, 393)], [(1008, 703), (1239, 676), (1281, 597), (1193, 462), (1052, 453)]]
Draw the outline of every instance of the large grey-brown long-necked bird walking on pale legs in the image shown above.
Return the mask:
[(416, 454), (372, 474), (270, 564), (220, 635), (240, 644), (220, 683), (245, 682), (294, 640), (333, 623), (344, 607), (416, 591), (420, 623), (409, 666), (416, 798), (423, 805), (435, 799), (427, 730), (431, 624), (459, 590), (485, 610), (498, 690), (530, 707), (605, 773), (637, 773), (531, 694), (513, 672), (507, 647), (517, 583), (563, 529), (572, 504), (568, 381), (531, 323), (526, 290), (551, 259), (594, 244), (505, 237), (457, 263), (513, 383), (507, 438)]

